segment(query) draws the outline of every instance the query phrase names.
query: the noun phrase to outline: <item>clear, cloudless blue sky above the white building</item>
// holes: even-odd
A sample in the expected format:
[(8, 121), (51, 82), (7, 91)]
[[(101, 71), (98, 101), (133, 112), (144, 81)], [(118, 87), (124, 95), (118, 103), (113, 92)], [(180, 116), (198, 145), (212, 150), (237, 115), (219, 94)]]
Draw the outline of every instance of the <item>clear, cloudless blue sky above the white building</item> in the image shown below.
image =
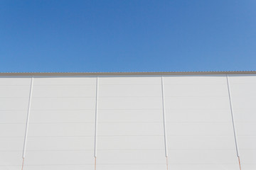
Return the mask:
[(0, 72), (255, 69), (255, 0), (0, 1)]

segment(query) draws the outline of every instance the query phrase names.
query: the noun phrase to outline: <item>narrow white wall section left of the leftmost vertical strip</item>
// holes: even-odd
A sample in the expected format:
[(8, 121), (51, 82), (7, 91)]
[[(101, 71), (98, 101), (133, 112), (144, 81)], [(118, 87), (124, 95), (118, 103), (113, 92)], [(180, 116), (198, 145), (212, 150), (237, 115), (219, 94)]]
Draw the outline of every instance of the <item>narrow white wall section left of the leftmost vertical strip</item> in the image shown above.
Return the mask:
[(0, 170), (21, 169), (30, 77), (0, 77)]

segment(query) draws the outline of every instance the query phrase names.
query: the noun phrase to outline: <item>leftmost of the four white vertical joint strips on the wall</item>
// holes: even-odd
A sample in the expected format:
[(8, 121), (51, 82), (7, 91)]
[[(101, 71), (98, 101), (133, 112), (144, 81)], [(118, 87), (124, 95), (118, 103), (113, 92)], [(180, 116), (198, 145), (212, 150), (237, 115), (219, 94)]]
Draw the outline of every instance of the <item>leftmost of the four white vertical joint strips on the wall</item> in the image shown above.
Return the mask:
[(27, 113), (27, 119), (26, 119), (26, 130), (25, 130), (23, 153), (22, 153), (23, 162), (25, 159), (26, 143), (27, 143), (27, 139), (28, 139), (28, 125), (29, 125), (29, 117), (30, 117), (30, 113), (31, 113), (32, 94), (33, 94), (33, 76), (31, 77), (31, 87), (30, 87), (29, 98), (28, 98), (28, 113)]

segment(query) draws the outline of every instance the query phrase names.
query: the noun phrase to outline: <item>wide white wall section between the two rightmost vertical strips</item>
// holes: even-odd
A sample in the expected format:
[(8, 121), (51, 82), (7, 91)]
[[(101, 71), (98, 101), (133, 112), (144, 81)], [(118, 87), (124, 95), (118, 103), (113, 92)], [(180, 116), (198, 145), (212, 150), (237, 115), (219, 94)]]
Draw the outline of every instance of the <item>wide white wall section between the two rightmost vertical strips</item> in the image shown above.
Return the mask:
[(239, 169), (225, 75), (164, 79), (169, 166)]

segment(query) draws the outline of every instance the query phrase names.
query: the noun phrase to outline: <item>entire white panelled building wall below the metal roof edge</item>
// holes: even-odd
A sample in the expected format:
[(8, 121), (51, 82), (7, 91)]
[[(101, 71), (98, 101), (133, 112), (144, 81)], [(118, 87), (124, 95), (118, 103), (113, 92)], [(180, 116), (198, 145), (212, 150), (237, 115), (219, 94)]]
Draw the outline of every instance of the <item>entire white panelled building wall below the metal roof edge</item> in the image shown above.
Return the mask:
[[(256, 74), (230, 74), (243, 170), (256, 169)], [(33, 77), (24, 170), (239, 169), (225, 74)], [(21, 169), (31, 76), (0, 77), (0, 170)]]

